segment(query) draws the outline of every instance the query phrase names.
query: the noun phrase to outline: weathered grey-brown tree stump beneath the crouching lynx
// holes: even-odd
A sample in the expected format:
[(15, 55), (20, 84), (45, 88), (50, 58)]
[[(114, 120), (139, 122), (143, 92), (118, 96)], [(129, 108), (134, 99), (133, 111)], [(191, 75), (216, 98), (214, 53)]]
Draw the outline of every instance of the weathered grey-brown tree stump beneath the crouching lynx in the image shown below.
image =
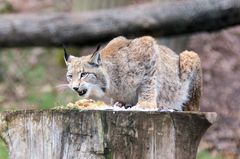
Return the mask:
[(0, 117), (10, 159), (195, 159), (216, 113), (64, 109)]

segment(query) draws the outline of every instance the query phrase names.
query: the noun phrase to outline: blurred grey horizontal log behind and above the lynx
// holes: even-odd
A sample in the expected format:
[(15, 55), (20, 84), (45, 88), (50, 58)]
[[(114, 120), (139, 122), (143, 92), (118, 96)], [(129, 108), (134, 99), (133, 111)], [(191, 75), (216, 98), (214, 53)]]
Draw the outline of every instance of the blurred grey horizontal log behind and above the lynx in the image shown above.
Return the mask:
[(170, 36), (240, 24), (239, 0), (186, 0), (87, 13), (0, 16), (0, 46), (82, 46), (113, 37)]

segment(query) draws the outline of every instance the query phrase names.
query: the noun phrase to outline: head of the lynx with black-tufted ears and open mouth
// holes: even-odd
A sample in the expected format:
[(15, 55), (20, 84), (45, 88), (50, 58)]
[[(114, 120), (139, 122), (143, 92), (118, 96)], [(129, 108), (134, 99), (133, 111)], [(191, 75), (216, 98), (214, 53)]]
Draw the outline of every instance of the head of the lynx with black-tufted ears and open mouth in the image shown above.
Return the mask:
[(69, 87), (83, 98), (101, 99), (107, 89), (99, 48), (91, 56), (82, 57), (69, 55), (64, 48)]

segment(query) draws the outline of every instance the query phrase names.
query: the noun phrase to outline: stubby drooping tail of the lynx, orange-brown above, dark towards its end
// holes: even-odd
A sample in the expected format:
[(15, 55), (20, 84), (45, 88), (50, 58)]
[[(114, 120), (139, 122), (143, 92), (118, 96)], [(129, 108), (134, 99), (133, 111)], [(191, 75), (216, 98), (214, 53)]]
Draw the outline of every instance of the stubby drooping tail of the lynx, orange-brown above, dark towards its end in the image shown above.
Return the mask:
[(202, 94), (202, 69), (198, 54), (184, 51), (179, 59), (180, 79), (182, 82), (189, 80), (188, 101), (184, 103), (184, 111), (199, 111), (200, 97)]

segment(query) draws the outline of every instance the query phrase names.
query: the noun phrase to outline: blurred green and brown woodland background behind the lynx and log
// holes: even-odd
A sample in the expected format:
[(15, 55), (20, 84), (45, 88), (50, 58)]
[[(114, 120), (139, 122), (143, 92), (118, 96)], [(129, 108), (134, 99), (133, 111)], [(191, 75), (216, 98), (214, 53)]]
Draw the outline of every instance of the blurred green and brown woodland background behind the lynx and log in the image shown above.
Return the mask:
[[(169, 1), (0, 0), (0, 20), (7, 14), (81, 14), (151, 2), (165, 5)], [(218, 120), (202, 139), (198, 159), (240, 159), (240, 26), (155, 37), (177, 53), (194, 50), (201, 58), (204, 86), (201, 111), (217, 112)], [(68, 47), (77, 56), (94, 49), (92, 44)], [(1, 47), (0, 43), (0, 110), (48, 109), (76, 101), (78, 96), (66, 87), (65, 73), (63, 49), (59, 46)], [(0, 159), (7, 156), (6, 145), (0, 142)]]

